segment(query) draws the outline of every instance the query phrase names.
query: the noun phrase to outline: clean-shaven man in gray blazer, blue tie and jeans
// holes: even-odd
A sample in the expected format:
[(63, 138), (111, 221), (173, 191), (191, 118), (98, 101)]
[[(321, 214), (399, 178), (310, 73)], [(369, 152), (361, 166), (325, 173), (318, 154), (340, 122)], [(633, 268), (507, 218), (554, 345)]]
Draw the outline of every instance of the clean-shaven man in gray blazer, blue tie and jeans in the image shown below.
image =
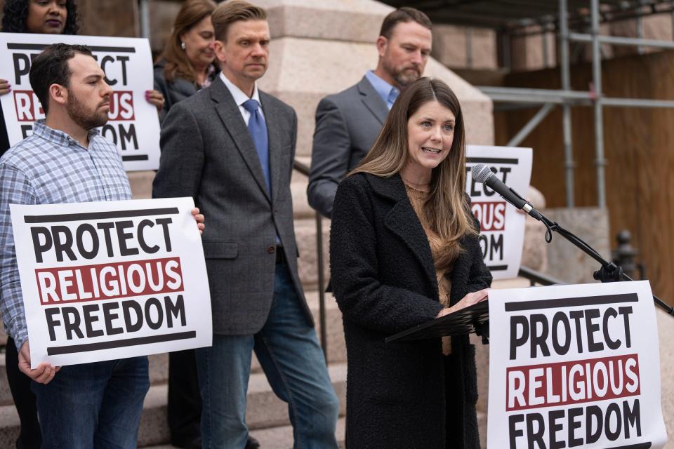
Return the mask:
[(230, 0), (211, 20), (222, 72), (171, 108), (154, 180), (154, 196), (192, 196), (209, 217), (203, 245), (214, 335), (213, 347), (197, 349), (202, 445), (244, 448), (254, 350), (289, 404), (296, 447), (336, 448), (339, 404), (297, 271), (297, 116), (256, 85), (269, 54), (265, 11)]

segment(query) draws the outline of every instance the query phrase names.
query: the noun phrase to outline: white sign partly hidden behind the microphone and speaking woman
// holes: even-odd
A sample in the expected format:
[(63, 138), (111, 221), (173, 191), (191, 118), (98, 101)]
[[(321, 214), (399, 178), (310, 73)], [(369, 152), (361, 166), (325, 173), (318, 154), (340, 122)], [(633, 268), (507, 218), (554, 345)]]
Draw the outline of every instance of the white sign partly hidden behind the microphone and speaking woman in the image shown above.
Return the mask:
[(491, 171), (508, 187), (526, 198), (531, 179), (531, 148), (466, 147), (465, 192), (472, 210), (480, 220), (480, 246), (484, 263), (494, 279), (517, 276), (524, 246), (524, 218), (517, 209), (486, 185), (475, 182), (470, 170), (478, 163)]

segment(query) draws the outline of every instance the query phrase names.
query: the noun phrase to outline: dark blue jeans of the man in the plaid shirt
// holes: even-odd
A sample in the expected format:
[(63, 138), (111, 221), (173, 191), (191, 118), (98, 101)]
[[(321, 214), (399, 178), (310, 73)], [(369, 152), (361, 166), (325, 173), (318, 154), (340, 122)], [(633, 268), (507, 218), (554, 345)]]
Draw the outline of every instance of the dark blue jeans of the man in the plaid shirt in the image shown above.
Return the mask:
[(135, 449), (147, 357), (64, 366), (48, 384), (32, 382), (42, 449)]

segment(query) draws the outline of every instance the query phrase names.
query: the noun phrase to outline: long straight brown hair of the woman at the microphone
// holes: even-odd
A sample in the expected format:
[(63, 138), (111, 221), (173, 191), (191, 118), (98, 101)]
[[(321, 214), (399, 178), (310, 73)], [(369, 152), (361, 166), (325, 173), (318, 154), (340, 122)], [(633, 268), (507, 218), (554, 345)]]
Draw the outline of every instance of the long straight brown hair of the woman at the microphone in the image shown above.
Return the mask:
[(364, 172), (389, 177), (400, 173), (409, 158), (407, 122), (427, 102), (437, 101), (454, 118), (454, 140), (447, 157), (433, 168), (430, 192), (423, 205), (425, 221), (444, 242), (437, 268), (444, 268), (461, 253), (459, 240), (475, 235), (473, 215), (465, 199), (465, 131), (458, 98), (440, 79), (420, 78), (402, 91), (391, 108), (381, 133), (362, 162), (350, 175)]

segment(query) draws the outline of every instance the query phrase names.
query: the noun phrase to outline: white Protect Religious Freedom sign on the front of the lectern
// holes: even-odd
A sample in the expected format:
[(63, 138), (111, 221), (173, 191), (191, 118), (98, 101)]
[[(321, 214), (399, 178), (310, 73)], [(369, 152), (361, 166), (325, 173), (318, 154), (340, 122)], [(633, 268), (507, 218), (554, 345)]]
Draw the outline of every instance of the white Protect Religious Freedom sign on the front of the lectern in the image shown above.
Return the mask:
[(666, 443), (648, 281), (491, 290), (489, 333), (489, 449)]

